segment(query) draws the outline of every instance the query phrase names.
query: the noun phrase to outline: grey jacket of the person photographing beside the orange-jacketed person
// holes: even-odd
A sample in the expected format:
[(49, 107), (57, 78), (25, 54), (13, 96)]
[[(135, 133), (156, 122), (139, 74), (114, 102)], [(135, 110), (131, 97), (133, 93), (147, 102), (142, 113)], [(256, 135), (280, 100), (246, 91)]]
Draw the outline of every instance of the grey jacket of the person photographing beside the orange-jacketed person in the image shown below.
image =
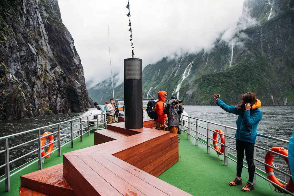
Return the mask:
[(172, 107), (174, 99), (170, 100), (163, 110), (163, 113), (167, 114), (168, 127), (178, 127), (179, 126), (179, 115), (183, 113), (183, 106), (179, 105), (179, 110)]

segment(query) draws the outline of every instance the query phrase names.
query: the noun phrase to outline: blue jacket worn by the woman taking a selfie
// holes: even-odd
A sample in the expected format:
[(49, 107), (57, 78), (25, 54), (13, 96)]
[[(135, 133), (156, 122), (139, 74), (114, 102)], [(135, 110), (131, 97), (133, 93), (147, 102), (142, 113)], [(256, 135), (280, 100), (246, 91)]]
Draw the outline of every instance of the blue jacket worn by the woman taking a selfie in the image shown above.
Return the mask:
[(256, 143), (257, 125), (262, 119), (261, 111), (258, 108), (245, 110), (242, 113), (241, 110), (236, 108), (236, 106), (228, 106), (220, 99), (217, 100), (216, 104), (226, 112), (239, 115), (236, 120), (237, 130), (235, 138), (237, 140)]

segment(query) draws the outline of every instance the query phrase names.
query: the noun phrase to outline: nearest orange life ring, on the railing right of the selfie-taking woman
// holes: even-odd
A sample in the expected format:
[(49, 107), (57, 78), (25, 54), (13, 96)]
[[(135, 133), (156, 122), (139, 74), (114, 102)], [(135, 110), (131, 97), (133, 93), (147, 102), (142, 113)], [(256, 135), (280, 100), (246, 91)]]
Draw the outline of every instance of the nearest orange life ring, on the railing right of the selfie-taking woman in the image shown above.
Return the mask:
[[(280, 148), (280, 147), (273, 147), (271, 148), (270, 150), (276, 152), (276, 153), (280, 153), (282, 155), (285, 155), (285, 156), (288, 156), (288, 150), (286, 150), (285, 148)], [(275, 153), (272, 153), (272, 152), (267, 152), (265, 154), (265, 160), (264, 162), (268, 165), (273, 165), (273, 158), (274, 156), (277, 155)], [(285, 158), (283, 157), (283, 159), (285, 160), (285, 162), (288, 164), (288, 167), (289, 167), (289, 159), (288, 158)], [(290, 170), (290, 168), (289, 168)], [(276, 184), (278, 184), (279, 186), (287, 189), (288, 191), (290, 192), (294, 192), (294, 184), (293, 184), (293, 180), (292, 180), (292, 177), (290, 178), (288, 184), (286, 185), (283, 185), (278, 179), (277, 177), (275, 176), (274, 174), (274, 171), (273, 171), (273, 168), (271, 167), (268, 167), (265, 165), (265, 172), (266, 172), (266, 175), (268, 177), (268, 180), (271, 180), (273, 182), (275, 182)], [(290, 174), (291, 174), (291, 171), (290, 171)], [(277, 187), (276, 185), (273, 185), (274, 187), (276, 187), (279, 191), (282, 191), (279, 187)]]

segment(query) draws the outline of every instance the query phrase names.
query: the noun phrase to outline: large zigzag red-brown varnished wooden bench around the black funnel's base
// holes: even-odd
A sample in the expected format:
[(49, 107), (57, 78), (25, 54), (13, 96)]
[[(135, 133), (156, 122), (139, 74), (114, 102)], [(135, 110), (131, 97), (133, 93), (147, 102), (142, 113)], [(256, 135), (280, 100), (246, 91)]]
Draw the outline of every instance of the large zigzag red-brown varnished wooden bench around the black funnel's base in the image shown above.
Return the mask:
[[(143, 126), (150, 121), (144, 119)], [(96, 144), (103, 137), (105, 142), (64, 154), (63, 177), (74, 195), (190, 195), (157, 178), (178, 162), (178, 135), (146, 127), (126, 129), (124, 123), (109, 124), (95, 134)], [(112, 140), (106, 142), (108, 138)]]

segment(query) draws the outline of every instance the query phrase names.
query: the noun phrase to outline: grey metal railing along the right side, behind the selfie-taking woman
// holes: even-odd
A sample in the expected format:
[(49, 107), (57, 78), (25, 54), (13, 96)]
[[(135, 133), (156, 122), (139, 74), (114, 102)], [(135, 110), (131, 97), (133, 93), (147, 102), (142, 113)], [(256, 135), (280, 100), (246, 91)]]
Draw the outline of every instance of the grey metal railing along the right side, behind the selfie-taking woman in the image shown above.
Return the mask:
[[(187, 135), (188, 135), (188, 136), (187, 136), (187, 139), (188, 139), (188, 140), (190, 140), (190, 136), (193, 137), (193, 138), (195, 138), (195, 140), (196, 140), (195, 145), (196, 145), (196, 146), (198, 146), (198, 141), (200, 141), (201, 143), (207, 145), (207, 154), (210, 153), (210, 149), (211, 149), (211, 148), (212, 148), (213, 150), (215, 150), (215, 149), (213, 148), (213, 145), (211, 144), (211, 141), (215, 141), (216, 143), (218, 143), (218, 144), (220, 144), (220, 145), (224, 145), (224, 153), (221, 153), (220, 151), (218, 151), (218, 153), (220, 153), (221, 155), (224, 155), (224, 160), (223, 160), (223, 161), (224, 161), (224, 166), (225, 166), (225, 165), (228, 165), (228, 159), (230, 159), (230, 160), (234, 161), (235, 163), (237, 163), (237, 161), (236, 161), (235, 159), (231, 158), (231, 156), (233, 156), (233, 157), (235, 157), (235, 158), (237, 158), (237, 156), (228, 153), (228, 149), (233, 150), (233, 151), (237, 151), (235, 148), (230, 147), (230, 146), (228, 145), (228, 139), (236, 140), (234, 137), (228, 135), (228, 129), (237, 130), (237, 128), (235, 128), (235, 127), (230, 127), (230, 126), (226, 126), (226, 125), (221, 125), (221, 124), (218, 124), (218, 123), (213, 123), (213, 122), (209, 122), (209, 121), (206, 121), (206, 120), (201, 120), (201, 119), (198, 119), (198, 118), (193, 118), (193, 117), (189, 117), (189, 116), (185, 116), (185, 115), (181, 115), (181, 117), (182, 117), (182, 118), (181, 118), (181, 120), (182, 120), (182, 123), (181, 123), (181, 135), (183, 135), (183, 132), (185, 132), (185, 133), (187, 133)], [(183, 120), (183, 117), (188, 118), (188, 120)], [(191, 122), (191, 119), (196, 120), (196, 124), (195, 124), (195, 123), (192, 123), (192, 122)], [(183, 124), (185, 124), (184, 122), (187, 122), (188, 125), (187, 125), (187, 126), (183, 125)], [(201, 125), (198, 124), (199, 122), (207, 123), (207, 126), (205, 126), (205, 127), (204, 127), (203, 125), (201, 126)], [(192, 129), (192, 128), (191, 128), (191, 125), (195, 125), (195, 126), (196, 126), (196, 130)], [(210, 137), (210, 133), (211, 133), (211, 132), (219, 134), (218, 132), (216, 132), (216, 131), (214, 131), (214, 130), (211, 130), (211, 129), (210, 129), (210, 125), (217, 125), (217, 126), (220, 126), (220, 127), (225, 128), (224, 134), (221, 134), (221, 135), (224, 135), (224, 136), (225, 136), (225, 142), (224, 142), (224, 143), (220, 143), (219, 141), (214, 140), (213, 138)], [(184, 130), (184, 128), (186, 128), (186, 130)], [(203, 133), (200, 133), (199, 128), (203, 128), (203, 129), (207, 130), (206, 135), (203, 134)], [(194, 131), (194, 132), (195, 132), (195, 135), (193, 135), (193, 134), (191, 133), (191, 131)], [(199, 135), (202, 135), (204, 138), (206, 138), (206, 141), (203, 140), (203, 139), (201, 139), (200, 137), (198, 137)], [(257, 134), (257, 136), (258, 136), (258, 137), (262, 137), (262, 138), (268, 138), (268, 139), (270, 139), (270, 140), (275, 140), (275, 141), (278, 141), (278, 142), (281, 142), (281, 143), (285, 143), (285, 144), (288, 144), (288, 143), (289, 143), (288, 140), (283, 140), (283, 139), (275, 138), (275, 137), (268, 136), (268, 135)], [(254, 165), (255, 165), (255, 172), (254, 172), (253, 183), (256, 184), (256, 175), (258, 175), (259, 177), (263, 178), (264, 180), (266, 180), (266, 181), (272, 183), (273, 185), (275, 185), (275, 187), (279, 187), (279, 189), (282, 190), (284, 193), (288, 193), (288, 194), (290, 194), (290, 195), (294, 195), (294, 194), (291, 193), (290, 191), (288, 191), (288, 190), (286, 190), (285, 188), (279, 186), (279, 185), (276, 184), (275, 182), (269, 180), (267, 177), (264, 176), (264, 175), (266, 175), (266, 172), (265, 172), (264, 170), (262, 170), (262, 169), (256, 167), (256, 162), (258, 162), (258, 163), (263, 164), (263, 165), (265, 165), (265, 166), (271, 167), (272, 169), (274, 169), (274, 170), (276, 170), (276, 171), (278, 171), (278, 172), (283, 173), (285, 176), (291, 177), (290, 172), (289, 172), (288, 170), (285, 170), (285, 171), (287, 171), (287, 172), (289, 172), (289, 173), (284, 172), (284, 171), (282, 171), (282, 170), (280, 170), (280, 169), (278, 169), (278, 168), (276, 168), (276, 167), (273, 167), (272, 165), (268, 165), (267, 163), (265, 163), (265, 162), (262, 161), (262, 160), (258, 160), (258, 159), (256, 158), (256, 148), (259, 148), (259, 149), (264, 150), (264, 151), (267, 151), (267, 152), (274, 153), (274, 154), (276, 154), (276, 155), (280, 155), (280, 156), (283, 157), (283, 158), (288, 158), (288, 156), (282, 155), (282, 154), (280, 154), (280, 153), (273, 152), (273, 151), (271, 151), (271, 150), (268, 150), (268, 149), (266, 149), (266, 148), (260, 147), (260, 146), (258, 146), (258, 145), (255, 144), (255, 147), (254, 147), (254, 154), (253, 154), (253, 162), (254, 162)], [(230, 155), (230, 156), (229, 156), (229, 155)], [(247, 163), (246, 161), (244, 161), (244, 162)], [(246, 167), (245, 165), (243, 165), (243, 167), (245, 167), (246, 169), (248, 169), (248, 167)], [(262, 172), (264, 175), (262, 175), (262, 174), (256, 172), (256, 169), (258, 169), (258, 170), (259, 170), (260, 172)], [(279, 180), (280, 182), (283, 182), (283, 181), (280, 180), (280, 179), (278, 179), (278, 180)], [(283, 183), (285, 184), (286, 182), (283, 182)]]

